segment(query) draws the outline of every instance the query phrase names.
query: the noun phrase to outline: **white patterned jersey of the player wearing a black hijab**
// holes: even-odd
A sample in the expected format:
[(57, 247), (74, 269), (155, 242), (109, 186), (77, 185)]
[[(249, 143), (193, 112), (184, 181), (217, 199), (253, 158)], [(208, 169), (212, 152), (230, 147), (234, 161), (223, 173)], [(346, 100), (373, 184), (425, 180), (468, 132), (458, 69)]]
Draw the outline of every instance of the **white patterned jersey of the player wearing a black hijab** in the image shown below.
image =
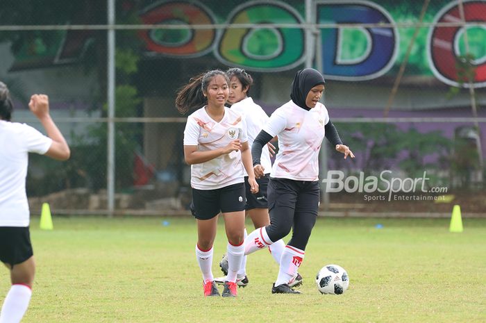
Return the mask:
[(270, 176), (296, 181), (319, 179), (319, 149), (324, 139), (328, 110), (322, 103), (304, 110), (292, 100), (276, 109), (263, 130), (278, 135), (278, 154)]

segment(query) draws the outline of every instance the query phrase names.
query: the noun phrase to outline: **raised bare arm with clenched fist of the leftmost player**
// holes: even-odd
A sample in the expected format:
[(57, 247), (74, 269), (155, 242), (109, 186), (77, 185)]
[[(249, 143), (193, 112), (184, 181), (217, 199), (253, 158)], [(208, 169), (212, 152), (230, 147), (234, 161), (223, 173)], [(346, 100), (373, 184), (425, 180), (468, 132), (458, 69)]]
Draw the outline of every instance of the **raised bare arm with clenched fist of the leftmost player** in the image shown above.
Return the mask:
[(71, 156), (69, 146), (51, 115), (49, 115), (49, 97), (45, 94), (33, 94), (31, 101), (28, 102), (28, 108), (44, 126), (47, 136), (52, 139), (51, 147), (45, 155), (57, 160), (69, 159), (69, 156)]

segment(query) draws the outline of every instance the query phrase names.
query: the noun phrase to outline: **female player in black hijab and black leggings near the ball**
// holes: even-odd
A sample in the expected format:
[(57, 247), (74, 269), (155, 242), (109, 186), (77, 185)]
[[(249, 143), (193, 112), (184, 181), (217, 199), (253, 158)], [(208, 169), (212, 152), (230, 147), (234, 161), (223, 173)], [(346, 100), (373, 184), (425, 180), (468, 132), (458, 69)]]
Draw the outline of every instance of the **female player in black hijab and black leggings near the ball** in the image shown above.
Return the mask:
[(315, 69), (297, 72), (292, 82), (291, 100), (272, 113), (253, 142), (251, 149), (255, 176), (265, 169), (260, 163), (262, 147), (278, 135), (278, 154), (271, 169), (268, 204), (271, 224), (256, 229), (245, 239), (245, 254), (268, 247), (290, 233), (278, 277), (272, 293), (299, 294), (288, 281), (296, 274), (305, 254), (305, 246), (317, 219), (319, 208), (319, 149), (324, 136), (344, 154), (354, 158), (342, 144), (330, 122), (324, 104), (324, 77)]

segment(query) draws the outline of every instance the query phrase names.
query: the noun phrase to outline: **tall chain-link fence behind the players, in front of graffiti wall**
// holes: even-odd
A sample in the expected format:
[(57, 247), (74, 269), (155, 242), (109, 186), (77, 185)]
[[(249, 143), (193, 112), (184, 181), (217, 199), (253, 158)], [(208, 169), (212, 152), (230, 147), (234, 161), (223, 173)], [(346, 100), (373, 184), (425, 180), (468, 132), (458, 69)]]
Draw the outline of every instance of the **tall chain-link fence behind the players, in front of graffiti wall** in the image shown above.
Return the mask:
[(31, 156), (33, 213), (44, 201), (68, 214), (187, 213), (178, 88), (242, 67), (271, 114), (306, 66), (323, 72), (321, 101), (356, 155), (323, 145), (323, 210), (483, 213), (486, 1), (240, 2), (2, 1), (13, 121), (42, 129), (26, 103), (48, 94), (72, 149), (63, 163)]

